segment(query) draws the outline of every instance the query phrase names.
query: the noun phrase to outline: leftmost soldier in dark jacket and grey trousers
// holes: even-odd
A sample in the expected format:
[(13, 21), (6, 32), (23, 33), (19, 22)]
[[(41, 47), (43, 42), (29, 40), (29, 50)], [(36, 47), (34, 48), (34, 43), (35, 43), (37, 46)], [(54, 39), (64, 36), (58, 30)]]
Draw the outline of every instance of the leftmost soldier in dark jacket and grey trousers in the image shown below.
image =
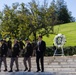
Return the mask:
[(5, 43), (5, 40), (1, 40), (1, 44), (2, 46), (1, 46), (1, 57), (0, 57), (0, 71), (1, 71), (2, 61), (4, 62), (4, 66), (5, 66), (4, 71), (7, 71), (6, 55), (7, 55), (8, 47)]

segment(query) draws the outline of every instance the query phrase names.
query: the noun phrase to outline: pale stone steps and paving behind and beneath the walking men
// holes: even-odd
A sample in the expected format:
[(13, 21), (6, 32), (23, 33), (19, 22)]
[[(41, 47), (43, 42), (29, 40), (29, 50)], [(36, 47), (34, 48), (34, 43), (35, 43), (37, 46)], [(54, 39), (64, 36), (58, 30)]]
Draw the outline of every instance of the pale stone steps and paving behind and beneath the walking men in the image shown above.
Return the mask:
[[(45, 57), (45, 72), (36, 72), (36, 58), (32, 57), (32, 71), (24, 72), (23, 58), (19, 58), (19, 72), (3, 72), (4, 64), (2, 63), (0, 75), (76, 75), (76, 56), (57, 56)], [(8, 70), (10, 69), (10, 58), (7, 58)], [(13, 70), (16, 70), (14, 64)]]

